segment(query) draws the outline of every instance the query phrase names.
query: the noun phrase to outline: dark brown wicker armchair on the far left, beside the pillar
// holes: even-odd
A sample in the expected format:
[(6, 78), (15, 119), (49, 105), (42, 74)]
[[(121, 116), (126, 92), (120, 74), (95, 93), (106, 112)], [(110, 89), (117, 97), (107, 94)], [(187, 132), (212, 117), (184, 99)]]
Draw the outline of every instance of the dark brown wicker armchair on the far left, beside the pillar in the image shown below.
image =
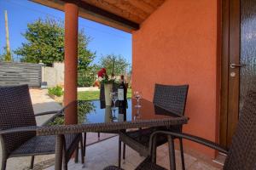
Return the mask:
[[(55, 136), (37, 136), (36, 132), (7, 133), (19, 127), (36, 127), (35, 116), (61, 114), (50, 111), (34, 115), (32, 101), (27, 85), (0, 88), (0, 140), (2, 144), (2, 170), (6, 169), (9, 157), (32, 156), (30, 168), (33, 168), (34, 156), (55, 154)], [(45, 124), (43, 126), (46, 126)], [(3, 133), (6, 132), (6, 133)], [(65, 135), (66, 151), (64, 168), (79, 143), (83, 148), (82, 134)], [(84, 160), (83, 151), (81, 152)], [(76, 157), (76, 159), (78, 159)]]

